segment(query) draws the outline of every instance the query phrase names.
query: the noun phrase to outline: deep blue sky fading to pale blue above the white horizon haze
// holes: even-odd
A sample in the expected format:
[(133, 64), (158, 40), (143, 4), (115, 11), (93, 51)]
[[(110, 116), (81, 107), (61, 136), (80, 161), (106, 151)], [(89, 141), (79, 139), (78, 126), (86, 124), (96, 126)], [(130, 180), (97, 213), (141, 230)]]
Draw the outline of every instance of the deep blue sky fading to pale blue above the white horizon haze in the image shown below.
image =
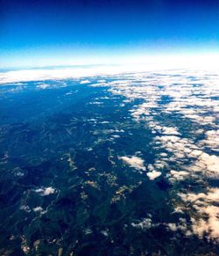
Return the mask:
[(0, 0), (0, 58), (218, 51), (219, 0)]

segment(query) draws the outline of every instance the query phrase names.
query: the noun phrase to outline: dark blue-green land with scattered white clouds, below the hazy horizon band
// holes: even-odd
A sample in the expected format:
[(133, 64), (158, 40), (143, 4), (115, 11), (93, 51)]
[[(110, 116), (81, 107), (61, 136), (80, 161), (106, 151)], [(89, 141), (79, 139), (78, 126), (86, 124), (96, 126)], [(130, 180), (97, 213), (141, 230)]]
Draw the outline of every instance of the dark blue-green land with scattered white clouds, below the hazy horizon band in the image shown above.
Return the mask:
[(219, 255), (219, 76), (0, 85), (1, 255)]

